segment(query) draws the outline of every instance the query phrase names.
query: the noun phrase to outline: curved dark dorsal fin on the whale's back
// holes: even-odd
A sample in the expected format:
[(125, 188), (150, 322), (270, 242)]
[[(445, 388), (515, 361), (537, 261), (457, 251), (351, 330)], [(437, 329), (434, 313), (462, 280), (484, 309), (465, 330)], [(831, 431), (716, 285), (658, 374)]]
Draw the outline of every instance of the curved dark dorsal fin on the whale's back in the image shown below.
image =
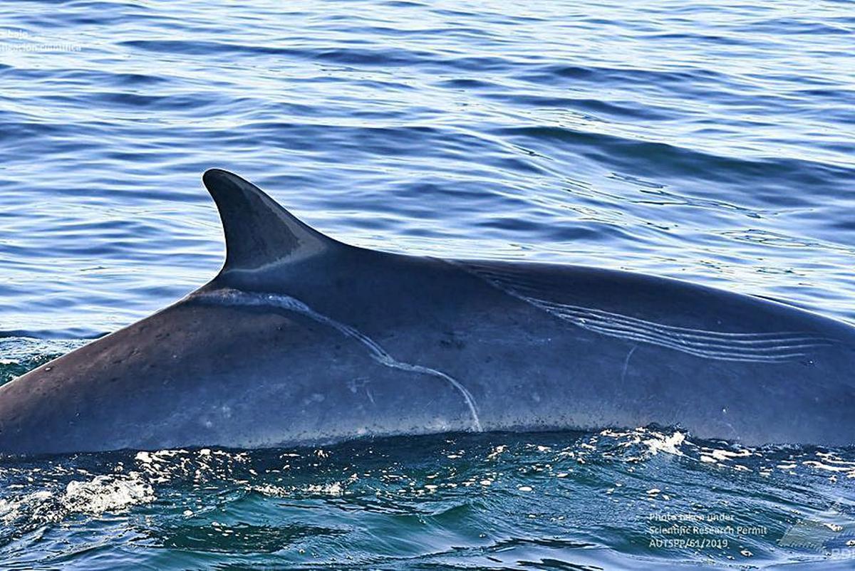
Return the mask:
[(214, 197), (226, 234), (226, 264), (222, 271), (255, 270), (296, 262), (337, 246), (268, 197), (251, 182), (219, 168), (202, 176)]

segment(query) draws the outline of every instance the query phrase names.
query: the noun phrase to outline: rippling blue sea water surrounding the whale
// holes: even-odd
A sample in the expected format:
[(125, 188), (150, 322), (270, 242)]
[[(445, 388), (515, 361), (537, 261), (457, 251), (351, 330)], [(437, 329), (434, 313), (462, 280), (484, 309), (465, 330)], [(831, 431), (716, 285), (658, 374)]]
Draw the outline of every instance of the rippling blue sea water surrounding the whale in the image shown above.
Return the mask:
[[(0, 382), (214, 276), (212, 167), (351, 244), (855, 323), (852, 46), (849, 1), (3, 3)], [(694, 567), (855, 568), (855, 449), (639, 427), (0, 456), (3, 569)]]

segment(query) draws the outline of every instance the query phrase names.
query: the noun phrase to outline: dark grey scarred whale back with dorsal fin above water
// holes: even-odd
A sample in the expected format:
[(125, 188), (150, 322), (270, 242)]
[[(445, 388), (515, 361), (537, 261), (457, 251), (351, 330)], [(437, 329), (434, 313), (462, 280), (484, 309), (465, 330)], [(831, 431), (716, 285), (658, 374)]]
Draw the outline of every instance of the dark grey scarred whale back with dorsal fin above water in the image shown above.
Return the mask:
[(855, 441), (855, 330), (613, 270), (341, 244), (211, 170), (209, 284), (0, 387), (0, 450), (325, 444), (446, 431), (679, 425)]

